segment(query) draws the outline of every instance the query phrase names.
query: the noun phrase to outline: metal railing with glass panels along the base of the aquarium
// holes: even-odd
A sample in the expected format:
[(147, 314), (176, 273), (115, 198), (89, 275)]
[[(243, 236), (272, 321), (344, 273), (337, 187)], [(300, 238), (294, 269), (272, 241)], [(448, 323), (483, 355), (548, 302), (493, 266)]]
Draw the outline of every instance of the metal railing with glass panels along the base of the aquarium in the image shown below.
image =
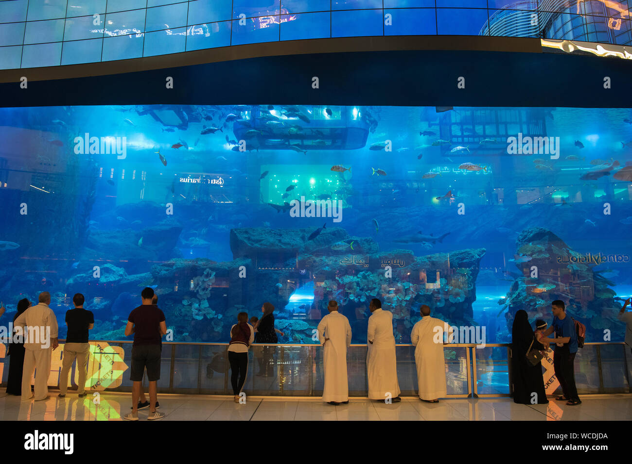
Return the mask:
[[(123, 368), (118, 364), (120, 375), (117, 379), (107, 377), (111, 372), (107, 363), (114, 365), (115, 356), (110, 355), (115, 350), (95, 350), (91, 362), (98, 367), (99, 372), (105, 372), (106, 378), (103, 379), (106, 381), (95, 381), (98, 376), (94, 377), (90, 385), (92, 390), (131, 391), (128, 369), (132, 342), (99, 340), (91, 343), (119, 347), (118, 352), (123, 352), (123, 356), (118, 362), (125, 362), (127, 366)], [(227, 348), (228, 343), (163, 342), (159, 391), (231, 394)], [(473, 343), (449, 343), (444, 345), (444, 350), (447, 396), (468, 398), (512, 395), (511, 344), (493, 343), (481, 348)], [(367, 395), (366, 353), (365, 344), (353, 344), (347, 350), (350, 396)], [(324, 383), (322, 355), (322, 347), (316, 344), (253, 344), (248, 352), (248, 375), (244, 391), (250, 395), (321, 396)], [(102, 356), (106, 356), (106, 359), (102, 359)], [(410, 344), (396, 345), (396, 357), (401, 395), (415, 396), (415, 347)], [(8, 359), (5, 359), (3, 381), (8, 373), (8, 364)], [(578, 349), (574, 366), (580, 394), (632, 391), (632, 356), (628, 345), (624, 343), (585, 343), (583, 348)], [(258, 372), (253, 372), (255, 368)], [(549, 377), (552, 376), (552, 365), (547, 365), (547, 369), (550, 371)], [(51, 372), (49, 386), (52, 388), (56, 386), (54, 374), (59, 370), (54, 367)], [(143, 384), (147, 384), (146, 378)]]

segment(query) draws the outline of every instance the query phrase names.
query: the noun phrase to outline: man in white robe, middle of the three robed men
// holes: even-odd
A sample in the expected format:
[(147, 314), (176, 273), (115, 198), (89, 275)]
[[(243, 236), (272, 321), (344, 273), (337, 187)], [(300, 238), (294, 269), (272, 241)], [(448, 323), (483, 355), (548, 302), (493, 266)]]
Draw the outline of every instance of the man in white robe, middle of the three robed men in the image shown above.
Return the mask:
[(371, 316), (367, 330), (368, 399), (399, 402), (393, 314), (382, 309), (382, 302), (374, 298), (368, 305)]

